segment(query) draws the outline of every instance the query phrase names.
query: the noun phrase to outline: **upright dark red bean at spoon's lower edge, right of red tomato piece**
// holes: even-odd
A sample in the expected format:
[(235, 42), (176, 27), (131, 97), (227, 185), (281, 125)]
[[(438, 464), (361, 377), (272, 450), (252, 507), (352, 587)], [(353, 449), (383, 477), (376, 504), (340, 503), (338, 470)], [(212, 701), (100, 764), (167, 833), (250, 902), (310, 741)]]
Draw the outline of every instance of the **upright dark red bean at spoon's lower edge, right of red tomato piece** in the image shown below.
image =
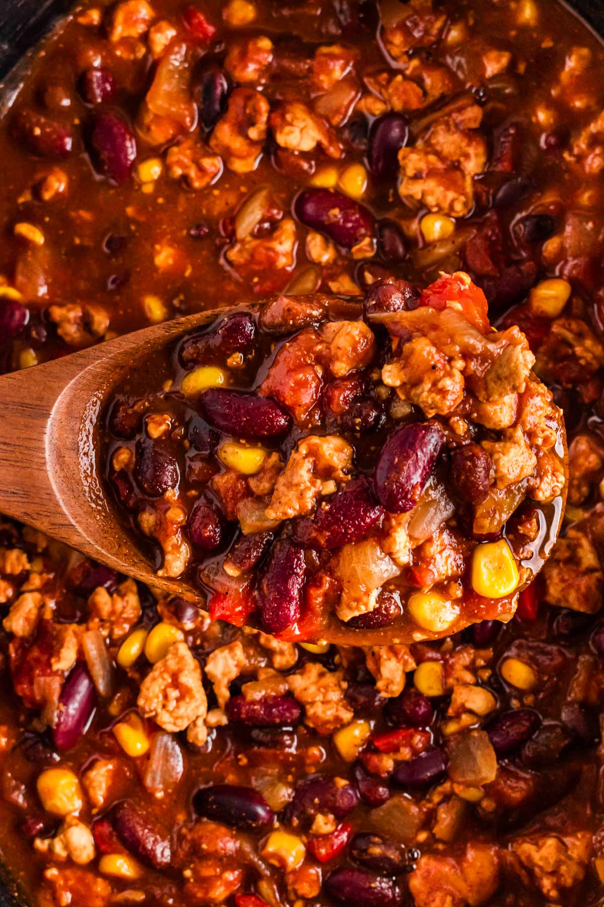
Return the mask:
[(264, 629), (278, 633), (300, 616), (306, 579), (304, 550), (292, 541), (277, 541), (271, 549), (260, 582), (258, 608)]

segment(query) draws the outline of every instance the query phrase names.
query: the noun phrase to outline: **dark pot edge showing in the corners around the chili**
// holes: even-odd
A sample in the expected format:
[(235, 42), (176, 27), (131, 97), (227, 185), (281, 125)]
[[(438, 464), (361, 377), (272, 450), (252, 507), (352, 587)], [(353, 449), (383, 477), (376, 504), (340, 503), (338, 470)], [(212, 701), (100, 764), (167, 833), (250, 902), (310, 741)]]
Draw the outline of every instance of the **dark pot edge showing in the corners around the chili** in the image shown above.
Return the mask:
[[(603, 0), (560, 2), (579, 13), (604, 37)], [(73, 5), (73, 0), (0, 0), (0, 116), (12, 102), (36, 45)], [(10, 866), (0, 861), (0, 907), (17, 907), (13, 891)]]

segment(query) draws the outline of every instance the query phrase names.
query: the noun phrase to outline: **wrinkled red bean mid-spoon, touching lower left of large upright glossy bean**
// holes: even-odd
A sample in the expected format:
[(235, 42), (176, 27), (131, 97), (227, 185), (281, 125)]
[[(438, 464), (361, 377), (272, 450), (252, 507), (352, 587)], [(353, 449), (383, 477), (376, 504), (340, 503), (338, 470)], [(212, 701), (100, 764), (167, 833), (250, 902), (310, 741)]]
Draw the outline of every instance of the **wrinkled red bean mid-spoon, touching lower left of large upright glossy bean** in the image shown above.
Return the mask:
[(331, 551), (364, 539), (383, 516), (384, 508), (376, 501), (369, 479), (361, 476), (319, 508), (314, 532), (321, 549)]

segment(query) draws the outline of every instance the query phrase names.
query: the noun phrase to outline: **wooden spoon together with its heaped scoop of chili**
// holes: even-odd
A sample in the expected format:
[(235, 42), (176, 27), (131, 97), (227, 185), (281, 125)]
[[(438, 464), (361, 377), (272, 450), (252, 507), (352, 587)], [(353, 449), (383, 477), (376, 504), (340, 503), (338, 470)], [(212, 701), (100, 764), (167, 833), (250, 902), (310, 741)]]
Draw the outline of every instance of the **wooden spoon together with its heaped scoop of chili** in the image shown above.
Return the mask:
[(287, 641), (505, 621), (568, 479), (533, 363), (463, 272), (170, 321), (0, 378), (0, 511)]

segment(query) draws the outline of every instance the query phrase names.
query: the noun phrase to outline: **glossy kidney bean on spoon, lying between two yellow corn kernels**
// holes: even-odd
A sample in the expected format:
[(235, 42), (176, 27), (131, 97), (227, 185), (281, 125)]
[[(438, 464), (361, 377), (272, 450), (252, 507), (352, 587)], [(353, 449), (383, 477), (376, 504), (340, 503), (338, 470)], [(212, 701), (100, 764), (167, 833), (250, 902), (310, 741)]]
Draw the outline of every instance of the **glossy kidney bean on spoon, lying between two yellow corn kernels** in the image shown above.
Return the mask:
[(272, 438), (285, 434), (292, 423), (270, 397), (246, 391), (210, 388), (199, 397), (206, 422), (240, 438)]

